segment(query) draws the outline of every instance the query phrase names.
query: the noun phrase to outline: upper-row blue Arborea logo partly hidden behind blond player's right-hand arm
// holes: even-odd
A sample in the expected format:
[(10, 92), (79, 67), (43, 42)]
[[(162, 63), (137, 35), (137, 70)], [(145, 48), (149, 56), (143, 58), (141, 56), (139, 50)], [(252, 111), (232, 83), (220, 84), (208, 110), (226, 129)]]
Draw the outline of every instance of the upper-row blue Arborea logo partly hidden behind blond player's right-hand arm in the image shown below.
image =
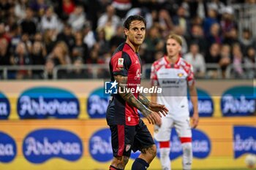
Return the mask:
[[(200, 88), (197, 88), (198, 112), (200, 117), (211, 117), (214, 114), (214, 101), (211, 96)], [(193, 115), (193, 105), (189, 97), (189, 114)]]

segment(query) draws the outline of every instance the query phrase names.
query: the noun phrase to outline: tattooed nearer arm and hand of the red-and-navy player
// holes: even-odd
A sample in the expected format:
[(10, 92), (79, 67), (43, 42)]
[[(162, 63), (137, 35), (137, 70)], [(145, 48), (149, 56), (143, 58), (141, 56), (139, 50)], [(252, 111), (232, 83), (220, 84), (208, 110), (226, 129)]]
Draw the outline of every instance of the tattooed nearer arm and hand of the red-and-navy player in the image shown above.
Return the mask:
[[(132, 107), (136, 107), (140, 110), (142, 115), (146, 117), (148, 120), (148, 123), (155, 124), (157, 121), (159, 121), (159, 116), (157, 112), (151, 111), (147, 107), (145, 107), (132, 93), (128, 93), (126, 89), (127, 85), (127, 77), (122, 75), (116, 75), (114, 76), (115, 80), (118, 82), (118, 86), (123, 89), (124, 93), (118, 93), (122, 98), (124, 98), (125, 101), (128, 102), (129, 105)], [(119, 88), (118, 88), (119, 89)]]

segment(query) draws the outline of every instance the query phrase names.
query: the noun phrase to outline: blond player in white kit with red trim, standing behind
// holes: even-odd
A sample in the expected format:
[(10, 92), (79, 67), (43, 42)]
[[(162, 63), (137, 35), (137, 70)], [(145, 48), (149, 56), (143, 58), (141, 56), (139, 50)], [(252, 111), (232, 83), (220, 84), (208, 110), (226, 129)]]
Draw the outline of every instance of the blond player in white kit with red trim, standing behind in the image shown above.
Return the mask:
[[(159, 142), (162, 169), (170, 170), (170, 131), (175, 127), (183, 149), (183, 169), (191, 169), (192, 131), (198, 124), (197, 91), (192, 66), (181, 58), (182, 40), (176, 34), (170, 34), (166, 41), (167, 55), (155, 61), (151, 66), (151, 83), (162, 88), (162, 93), (151, 96), (151, 101), (165, 104), (168, 115), (155, 125), (154, 138)], [(194, 113), (192, 125), (189, 121), (189, 103), (187, 88)]]

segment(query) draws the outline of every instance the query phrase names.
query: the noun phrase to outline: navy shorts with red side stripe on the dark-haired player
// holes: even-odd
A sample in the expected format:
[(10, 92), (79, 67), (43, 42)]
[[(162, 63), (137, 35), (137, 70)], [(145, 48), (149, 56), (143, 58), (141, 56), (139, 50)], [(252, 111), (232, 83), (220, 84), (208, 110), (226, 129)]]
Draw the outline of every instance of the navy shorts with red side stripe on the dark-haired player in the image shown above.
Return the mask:
[(114, 157), (129, 157), (131, 151), (136, 152), (154, 144), (147, 126), (141, 119), (138, 125), (110, 125), (110, 131)]

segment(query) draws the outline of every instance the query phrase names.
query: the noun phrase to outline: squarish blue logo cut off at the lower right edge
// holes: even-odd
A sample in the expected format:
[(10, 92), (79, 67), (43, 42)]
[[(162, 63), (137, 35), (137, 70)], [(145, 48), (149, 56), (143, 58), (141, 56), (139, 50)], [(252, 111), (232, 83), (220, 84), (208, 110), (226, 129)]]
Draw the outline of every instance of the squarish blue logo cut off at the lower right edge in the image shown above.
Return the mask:
[(234, 158), (239, 158), (246, 153), (256, 155), (256, 127), (239, 126), (233, 127), (233, 150)]

